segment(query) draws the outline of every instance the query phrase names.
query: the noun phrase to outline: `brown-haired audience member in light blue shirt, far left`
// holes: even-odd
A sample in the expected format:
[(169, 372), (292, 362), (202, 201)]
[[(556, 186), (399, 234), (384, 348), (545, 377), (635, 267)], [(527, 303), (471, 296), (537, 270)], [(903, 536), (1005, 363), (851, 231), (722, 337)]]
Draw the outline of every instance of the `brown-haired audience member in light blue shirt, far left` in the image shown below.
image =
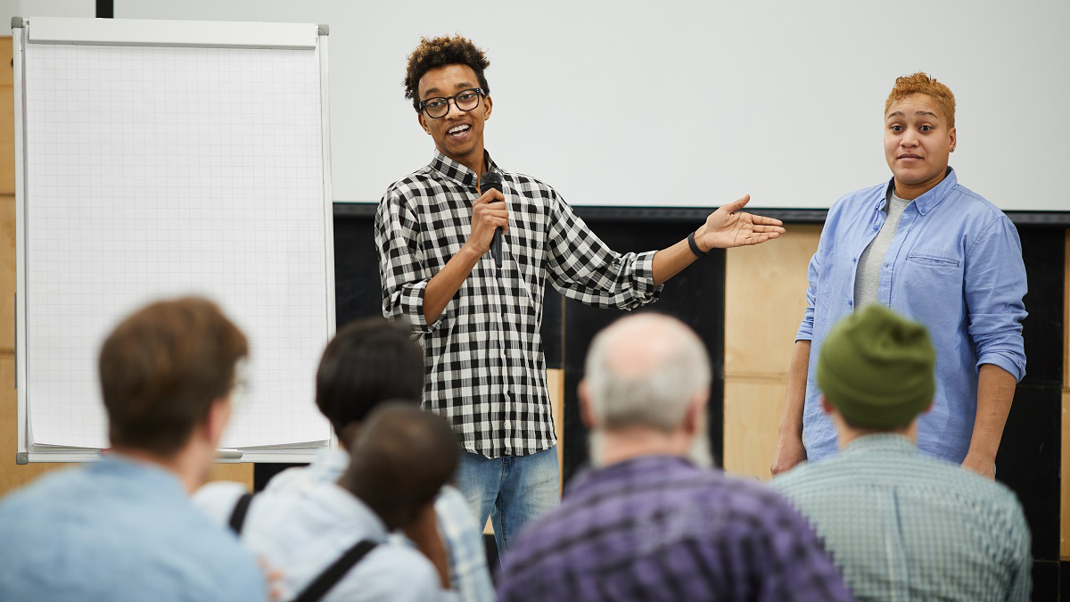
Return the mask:
[(204, 299), (123, 320), (100, 355), (112, 448), (0, 502), (0, 600), (263, 600), (253, 556), (188, 500), (215, 461), (246, 353)]

